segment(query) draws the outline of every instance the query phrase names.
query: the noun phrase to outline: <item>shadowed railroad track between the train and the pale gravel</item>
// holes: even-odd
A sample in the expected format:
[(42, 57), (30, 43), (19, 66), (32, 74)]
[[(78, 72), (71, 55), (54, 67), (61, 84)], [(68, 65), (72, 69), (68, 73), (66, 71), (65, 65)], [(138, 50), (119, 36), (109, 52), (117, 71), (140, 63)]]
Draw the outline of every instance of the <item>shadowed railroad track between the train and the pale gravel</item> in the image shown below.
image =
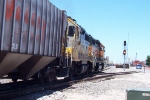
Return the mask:
[(28, 86), (25, 88), (17, 88), (17, 89), (8, 90), (8, 91), (1, 91), (0, 100), (9, 100), (18, 96), (28, 95), (28, 94), (43, 91), (43, 90), (56, 89), (56, 88), (61, 88), (61, 87), (69, 87), (73, 84), (83, 82), (83, 81), (92, 81), (96, 79), (108, 80), (108, 79), (114, 78), (116, 75), (126, 75), (126, 74), (132, 74), (132, 73), (138, 73), (138, 72), (130, 71), (130, 72), (118, 72), (118, 73), (98, 73), (98, 74), (95, 73), (91, 75), (83, 75), (83, 76), (75, 77), (71, 81), (58, 80), (57, 82), (53, 82), (51, 84), (50, 83), (42, 84), (42, 85), (35, 84), (35, 85)]

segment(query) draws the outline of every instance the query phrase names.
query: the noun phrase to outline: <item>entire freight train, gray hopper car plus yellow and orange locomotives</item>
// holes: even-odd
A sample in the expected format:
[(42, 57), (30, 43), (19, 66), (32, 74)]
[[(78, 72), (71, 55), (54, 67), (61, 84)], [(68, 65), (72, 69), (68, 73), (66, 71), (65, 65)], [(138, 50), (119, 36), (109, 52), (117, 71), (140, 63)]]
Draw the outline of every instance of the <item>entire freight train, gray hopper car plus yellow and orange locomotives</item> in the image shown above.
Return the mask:
[(101, 71), (105, 47), (49, 0), (0, 0), (0, 77), (51, 82)]

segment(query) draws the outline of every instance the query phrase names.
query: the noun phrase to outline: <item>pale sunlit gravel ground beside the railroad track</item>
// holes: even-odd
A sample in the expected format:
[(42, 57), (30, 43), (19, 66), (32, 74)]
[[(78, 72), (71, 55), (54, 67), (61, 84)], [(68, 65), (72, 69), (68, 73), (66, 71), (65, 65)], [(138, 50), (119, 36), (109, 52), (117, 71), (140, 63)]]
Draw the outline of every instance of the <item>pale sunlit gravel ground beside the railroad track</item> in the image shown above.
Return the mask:
[[(120, 69), (112, 68), (108, 72), (119, 72), (118, 70)], [(98, 79), (81, 82), (64, 89), (43, 91), (13, 100), (125, 100), (127, 89), (150, 88), (150, 71), (146, 71), (115, 76), (105, 81)]]

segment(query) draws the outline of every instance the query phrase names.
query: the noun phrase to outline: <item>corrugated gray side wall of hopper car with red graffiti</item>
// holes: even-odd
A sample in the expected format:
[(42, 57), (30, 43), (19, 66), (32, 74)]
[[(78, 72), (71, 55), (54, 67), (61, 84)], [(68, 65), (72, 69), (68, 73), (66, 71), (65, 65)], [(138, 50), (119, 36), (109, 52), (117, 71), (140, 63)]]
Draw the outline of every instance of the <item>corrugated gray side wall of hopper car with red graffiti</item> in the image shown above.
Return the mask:
[(63, 17), (49, 0), (0, 0), (0, 51), (59, 56)]

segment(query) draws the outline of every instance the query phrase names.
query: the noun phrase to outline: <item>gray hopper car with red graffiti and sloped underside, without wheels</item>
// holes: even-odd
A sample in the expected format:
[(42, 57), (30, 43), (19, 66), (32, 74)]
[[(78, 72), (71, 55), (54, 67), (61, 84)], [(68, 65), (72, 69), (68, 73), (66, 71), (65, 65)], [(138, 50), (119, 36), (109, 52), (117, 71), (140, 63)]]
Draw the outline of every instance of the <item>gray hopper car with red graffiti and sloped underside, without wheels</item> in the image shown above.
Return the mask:
[(67, 15), (49, 0), (0, 0), (0, 77), (21, 65), (30, 78), (59, 57), (66, 27)]

